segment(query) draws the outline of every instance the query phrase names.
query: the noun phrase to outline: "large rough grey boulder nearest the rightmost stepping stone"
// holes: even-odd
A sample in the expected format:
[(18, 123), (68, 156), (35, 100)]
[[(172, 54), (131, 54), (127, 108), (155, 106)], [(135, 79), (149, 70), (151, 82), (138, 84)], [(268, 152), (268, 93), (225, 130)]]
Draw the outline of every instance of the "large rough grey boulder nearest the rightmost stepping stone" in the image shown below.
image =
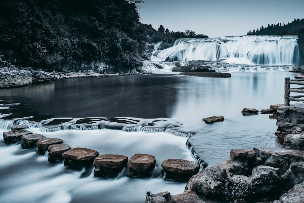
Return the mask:
[(226, 178), (226, 170), (222, 166), (215, 165), (193, 175), (189, 180), (189, 186), (197, 194), (216, 197), (222, 194)]

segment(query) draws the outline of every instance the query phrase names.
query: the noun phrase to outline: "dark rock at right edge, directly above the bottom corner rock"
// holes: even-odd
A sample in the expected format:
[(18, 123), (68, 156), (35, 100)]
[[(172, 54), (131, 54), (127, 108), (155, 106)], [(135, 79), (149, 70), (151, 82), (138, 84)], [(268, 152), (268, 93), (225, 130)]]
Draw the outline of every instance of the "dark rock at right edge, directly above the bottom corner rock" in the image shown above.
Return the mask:
[(290, 168), (282, 176), (285, 191), (304, 181), (304, 162), (290, 164)]

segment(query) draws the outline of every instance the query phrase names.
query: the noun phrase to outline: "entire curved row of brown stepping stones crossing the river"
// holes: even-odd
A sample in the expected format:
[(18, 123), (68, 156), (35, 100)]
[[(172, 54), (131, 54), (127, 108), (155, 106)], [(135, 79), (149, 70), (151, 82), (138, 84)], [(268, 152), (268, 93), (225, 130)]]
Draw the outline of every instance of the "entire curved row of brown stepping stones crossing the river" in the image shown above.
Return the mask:
[[(6, 144), (14, 144), (21, 140), (23, 149), (30, 149), (37, 145), (37, 153), (44, 155), (48, 151), (48, 160), (51, 163), (64, 161), (64, 166), (76, 170), (94, 166), (96, 177), (117, 177), (129, 163), (127, 177), (149, 178), (155, 167), (156, 159), (148, 154), (135, 154), (128, 159), (127, 156), (104, 154), (86, 148), (73, 148), (59, 138), (46, 138), (40, 134), (27, 131), (28, 126), (15, 125), (12, 131), (3, 133)], [(161, 164), (166, 172), (165, 180), (187, 182), (192, 175), (199, 172), (200, 165), (194, 161), (183, 159), (167, 159)]]

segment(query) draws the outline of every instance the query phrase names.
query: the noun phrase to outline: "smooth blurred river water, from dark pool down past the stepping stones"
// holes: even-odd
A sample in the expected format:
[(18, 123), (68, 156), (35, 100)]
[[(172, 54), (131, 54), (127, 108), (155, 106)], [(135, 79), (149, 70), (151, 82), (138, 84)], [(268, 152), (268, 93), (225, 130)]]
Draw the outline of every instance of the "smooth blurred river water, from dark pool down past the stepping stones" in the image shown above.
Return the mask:
[[(185, 183), (162, 179), (161, 163), (171, 158), (194, 160), (186, 146), (187, 137), (167, 133), (171, 131), (147, 133), (144, 126), (129, 132), (110, 130), (103, 128), (102, 122), (114, 122), (117, 118), (112, 117), (120, 117), (140, 126), (156, 120), (162, 120), (159, 126), (164, 128), (178, 124), (182, 131), (195, 133), (188, 142), (205, 166), (212, 166), (227, 160), (230, 149), (282, 147), (274, 135), (274, 115), (243, 116), (240, 111), (244, 107), (261, 110), (283, 103), (284, 78), (294, 75), (286, 71), (238, 72), (231, 78), (133, 75), (1, 89), (0, 133), (23, 122), (32, 126), (33, 133), (61, 138), (72, 148), (85, 147), (129, 159), (136, 153), (154, 155), (157, 167), (148, 179), (128, 178), (126, 169), (118, 178), (96, 178), (92, 168), (74, 171), (63, 163), (50, 164), (47, 156), (39, 156), (35, 149), (5, 145), (0, 140), (0, 201), (144, 202), (147, 191), (182, 193)], [(202, 118), (210, 116), (224, 116), (225, 120), (205, 124)], [(101, 125), (96, 130), (80, 130), (76, 124), (81, 123), (81, 118), (89, 118), (83, 119), (87, 122), (83, 126)], [(55, 121), (59, 131), (42, 131), (42, 126), (50, 128)], [(76, 127), (69, 129), (73, 124)]]

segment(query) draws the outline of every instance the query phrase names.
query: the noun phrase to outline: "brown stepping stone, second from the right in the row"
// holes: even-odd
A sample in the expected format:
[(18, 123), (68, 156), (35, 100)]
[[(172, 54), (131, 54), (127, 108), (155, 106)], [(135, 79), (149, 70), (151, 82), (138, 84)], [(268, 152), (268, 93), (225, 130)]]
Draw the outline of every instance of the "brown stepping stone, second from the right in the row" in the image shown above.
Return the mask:
[(155, 167), (156, 159), (148, 154), (135, 154), (129, 161), (127, 177), (150, 178)]

